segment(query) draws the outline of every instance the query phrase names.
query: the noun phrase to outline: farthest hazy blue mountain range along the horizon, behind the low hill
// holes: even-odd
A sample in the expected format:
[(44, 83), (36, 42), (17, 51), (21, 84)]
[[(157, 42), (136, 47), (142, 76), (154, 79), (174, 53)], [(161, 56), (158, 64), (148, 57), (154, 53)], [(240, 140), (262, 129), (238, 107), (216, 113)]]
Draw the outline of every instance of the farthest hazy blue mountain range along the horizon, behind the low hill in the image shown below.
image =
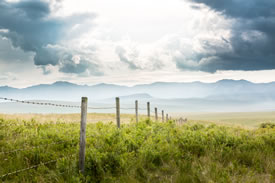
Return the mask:
[[(152, 84), (136, 85), (133, 87), (97, 84), (92, 86), (77, 85), (70, 82), (58, 81), (53, 84), (40, 84), (23, 89), (0, 87), (0, 95), (7, 97), (21, 97), (24, 99), (45, 99), (78, 101), (81, 96), (88, 96), (93, 100), (114, 98), (117, 96), (131, 96), (147, 94), (155, 98), (215, 98), (234, 97), (240, 95), (255, 95), (273, 97), (275, 82), (252, 83), (246, 80), (220, 80), (215, 83), (169, 83), (156, 82)], [(258, 96), (258, 97), (257, 97)]]

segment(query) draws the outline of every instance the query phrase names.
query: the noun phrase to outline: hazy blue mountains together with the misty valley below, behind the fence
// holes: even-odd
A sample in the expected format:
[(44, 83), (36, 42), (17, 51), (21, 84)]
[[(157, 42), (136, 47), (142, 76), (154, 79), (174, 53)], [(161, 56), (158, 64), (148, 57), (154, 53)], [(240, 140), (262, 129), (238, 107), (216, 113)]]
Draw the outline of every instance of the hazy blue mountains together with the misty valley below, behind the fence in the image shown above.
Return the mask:
[[(23, 89), (0, 87), (0, 97), (28, 100), (79, 102), (87, 96), (89, 102), (114, 104), (119, 96), (123, 105), (132, 106), (135, 100), (145, 104), (168, 107), (173, 111), (253, 111), (275, 109), (275, 82), (252, 83), (246, 80), (202, 82), (156, 82), (132, 87), (97, 84), (78, 85), (58, 81)], [(0, 106), (1, 107), (1, 106)], [(1, 112), (1, 108), (0, 108)]]

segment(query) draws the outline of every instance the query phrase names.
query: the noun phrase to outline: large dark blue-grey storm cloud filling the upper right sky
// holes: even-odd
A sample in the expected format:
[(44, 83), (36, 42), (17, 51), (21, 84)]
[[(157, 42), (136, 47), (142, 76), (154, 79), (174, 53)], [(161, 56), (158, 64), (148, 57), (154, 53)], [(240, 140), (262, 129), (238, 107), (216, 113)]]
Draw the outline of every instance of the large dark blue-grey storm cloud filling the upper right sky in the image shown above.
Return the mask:
[[(221, 37), (231, 51), (217, 49), (202, 40), (204, 52), (192, 58), (175, 57), (177, 66), (186, 70), (269, 70), (275, 69), (275, 1), (273, 0), (189, 0), (195, 9), (208, 6), (229, 19), (234, 19), (231, 37)], [(215, 50), (214, 52), (212, 50)], [(196, 64), (188, 64), (192, 59)]]

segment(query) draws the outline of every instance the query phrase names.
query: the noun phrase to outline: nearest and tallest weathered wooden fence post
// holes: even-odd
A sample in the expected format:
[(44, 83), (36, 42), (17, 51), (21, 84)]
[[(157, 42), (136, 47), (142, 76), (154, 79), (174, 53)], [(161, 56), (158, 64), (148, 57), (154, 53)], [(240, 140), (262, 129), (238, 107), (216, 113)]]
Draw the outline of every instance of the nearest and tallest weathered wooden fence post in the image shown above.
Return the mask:
[(79, 142), (79, 170), (85, 170), (85, 146), (86, 146), (86, 122), (87, 122), (88, 98), (81, 99), (81, 123), (80, 123), (80, 142)]

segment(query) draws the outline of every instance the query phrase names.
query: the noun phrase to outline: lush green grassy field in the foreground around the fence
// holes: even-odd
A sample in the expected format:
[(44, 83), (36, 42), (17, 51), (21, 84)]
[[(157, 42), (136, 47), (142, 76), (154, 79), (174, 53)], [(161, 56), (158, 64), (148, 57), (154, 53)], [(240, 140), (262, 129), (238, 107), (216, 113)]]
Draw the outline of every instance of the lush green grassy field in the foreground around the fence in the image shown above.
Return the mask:
[(275, 182), (274, 127), (92, 120), (110, 114), (88, 116), (81, 175), (79, 118), (0, 115), (0, 182)]

